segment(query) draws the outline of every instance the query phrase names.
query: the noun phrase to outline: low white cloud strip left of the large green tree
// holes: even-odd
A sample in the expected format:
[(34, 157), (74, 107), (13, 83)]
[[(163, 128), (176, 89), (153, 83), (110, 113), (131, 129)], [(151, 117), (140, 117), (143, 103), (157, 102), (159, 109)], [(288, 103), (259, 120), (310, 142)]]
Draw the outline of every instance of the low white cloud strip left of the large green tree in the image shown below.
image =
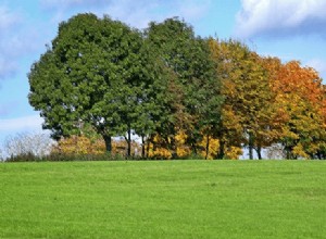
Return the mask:
[(0, 133), (40, 130), (43, 120), (39, 115), (0, 120)]

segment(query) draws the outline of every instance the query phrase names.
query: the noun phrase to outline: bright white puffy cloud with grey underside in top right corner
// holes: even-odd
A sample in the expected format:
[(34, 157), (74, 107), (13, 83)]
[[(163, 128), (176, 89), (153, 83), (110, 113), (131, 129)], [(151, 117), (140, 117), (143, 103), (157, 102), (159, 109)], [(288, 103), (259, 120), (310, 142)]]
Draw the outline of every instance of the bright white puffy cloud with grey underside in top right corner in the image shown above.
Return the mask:
[(236, 35), (292, 36), (317, 34), (326, 37), (325, 0), (241, 0)]

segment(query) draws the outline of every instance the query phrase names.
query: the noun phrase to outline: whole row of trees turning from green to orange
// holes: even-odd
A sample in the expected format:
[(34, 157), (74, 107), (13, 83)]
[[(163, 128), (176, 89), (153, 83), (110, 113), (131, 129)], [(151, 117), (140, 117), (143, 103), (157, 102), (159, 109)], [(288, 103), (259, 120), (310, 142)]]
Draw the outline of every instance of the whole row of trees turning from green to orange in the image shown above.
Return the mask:
[(130, 155), (134, 134), (142, 156), (238, 158), (248, 147), (261, 159), (276, 143), (287, 159), (326, 158), (326, 88), (313, 68), (203, 39), (178, 18), (140, 32), (78, 14), (28, 78), (29, 102), (57, 140), (100, 135), (111, 152), (122, 136)]

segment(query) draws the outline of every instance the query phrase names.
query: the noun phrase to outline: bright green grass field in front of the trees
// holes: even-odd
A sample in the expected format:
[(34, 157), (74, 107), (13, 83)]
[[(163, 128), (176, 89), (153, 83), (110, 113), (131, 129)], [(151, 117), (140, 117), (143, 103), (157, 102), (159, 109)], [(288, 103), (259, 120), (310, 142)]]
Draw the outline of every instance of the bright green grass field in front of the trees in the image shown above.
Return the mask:
[(0, 164), (0, 238), (325, 238), (325, 161)]

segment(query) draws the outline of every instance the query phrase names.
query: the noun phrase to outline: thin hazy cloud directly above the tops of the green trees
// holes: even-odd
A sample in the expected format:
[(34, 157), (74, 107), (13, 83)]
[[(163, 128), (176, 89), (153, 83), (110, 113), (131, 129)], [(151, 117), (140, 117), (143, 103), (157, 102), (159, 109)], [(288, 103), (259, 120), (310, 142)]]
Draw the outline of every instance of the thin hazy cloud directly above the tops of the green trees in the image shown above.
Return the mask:
[(180, 16), (187, 22), (201, 17), (212, 0), (45, 0), (46, 10), (54, 11), (54, 22), (78, 12), (93, 12), (99, 16), (109, 14), (134, 27), (145, 28), (151, 21)]

